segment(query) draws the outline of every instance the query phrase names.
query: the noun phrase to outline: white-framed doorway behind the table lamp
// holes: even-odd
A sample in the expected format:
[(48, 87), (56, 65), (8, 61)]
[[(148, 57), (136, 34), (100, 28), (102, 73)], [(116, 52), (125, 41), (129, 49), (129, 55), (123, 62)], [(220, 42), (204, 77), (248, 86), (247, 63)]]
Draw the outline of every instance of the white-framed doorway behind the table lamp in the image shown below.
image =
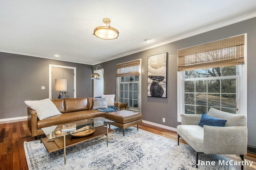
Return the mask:
[(49, 98), (57, 99), (59, 91), (55, 90), (55, 79), (67, 79), (64, 98), (76, 98), (76, 67), (49, 64)]

